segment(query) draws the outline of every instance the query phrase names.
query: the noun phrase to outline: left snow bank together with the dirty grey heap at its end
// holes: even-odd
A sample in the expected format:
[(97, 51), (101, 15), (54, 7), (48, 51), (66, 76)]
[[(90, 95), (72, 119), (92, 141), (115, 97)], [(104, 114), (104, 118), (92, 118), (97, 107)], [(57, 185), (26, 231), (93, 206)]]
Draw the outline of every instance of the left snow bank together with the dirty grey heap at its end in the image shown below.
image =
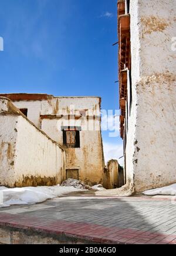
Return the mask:
[(56, 186), (25, 188), (0, 186), (0, 208), (10, 205), (38, 204), (70, 192), (86, 191), (87, 189), (91, 191), (105, 190), (101, 184), (91, 187), (76, 179), (67, 179), (61, 185)]

